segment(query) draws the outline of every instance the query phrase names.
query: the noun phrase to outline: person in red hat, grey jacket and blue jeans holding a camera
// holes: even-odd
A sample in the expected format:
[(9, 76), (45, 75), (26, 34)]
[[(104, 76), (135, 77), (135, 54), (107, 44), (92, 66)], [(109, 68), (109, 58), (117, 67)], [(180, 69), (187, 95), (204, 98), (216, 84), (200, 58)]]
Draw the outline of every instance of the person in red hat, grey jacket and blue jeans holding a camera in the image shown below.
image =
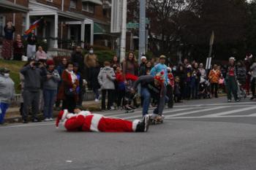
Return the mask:
[(56, 101), (57, 89), (61, 77), (55, 69), (53, 60), (46, 61), (47, 72), (43, 78), (44, 117), (45, 121), (53, 121), (53, 105)]

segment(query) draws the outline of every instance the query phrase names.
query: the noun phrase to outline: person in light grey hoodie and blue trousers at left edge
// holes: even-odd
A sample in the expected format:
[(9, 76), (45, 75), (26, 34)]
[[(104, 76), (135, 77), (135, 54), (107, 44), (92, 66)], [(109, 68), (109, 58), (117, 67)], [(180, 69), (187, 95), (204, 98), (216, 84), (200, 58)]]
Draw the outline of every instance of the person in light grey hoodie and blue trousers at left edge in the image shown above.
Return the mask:
[(0, 68), (0, 125), (4, 125), (4, 115), (15, 94), (14, 82), (9, 72), (6, 68)]

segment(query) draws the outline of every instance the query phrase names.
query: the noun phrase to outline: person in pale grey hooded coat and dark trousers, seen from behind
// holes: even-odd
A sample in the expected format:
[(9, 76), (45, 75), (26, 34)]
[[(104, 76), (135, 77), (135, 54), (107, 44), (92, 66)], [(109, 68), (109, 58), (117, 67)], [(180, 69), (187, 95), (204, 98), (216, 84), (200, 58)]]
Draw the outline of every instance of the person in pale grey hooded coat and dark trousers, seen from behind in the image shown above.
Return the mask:
[(108, 109), (113, 108), (113, 90), (115, 89), (114, 80), (116, 80), (116, 74), (113, 68), (110, 67), (110, 62), (105, 61), (104, 67), (100, 69), (98, 75), (99, 85), (102, 90), (102, 110), (106, 109), (105, 98), (108, 92)]

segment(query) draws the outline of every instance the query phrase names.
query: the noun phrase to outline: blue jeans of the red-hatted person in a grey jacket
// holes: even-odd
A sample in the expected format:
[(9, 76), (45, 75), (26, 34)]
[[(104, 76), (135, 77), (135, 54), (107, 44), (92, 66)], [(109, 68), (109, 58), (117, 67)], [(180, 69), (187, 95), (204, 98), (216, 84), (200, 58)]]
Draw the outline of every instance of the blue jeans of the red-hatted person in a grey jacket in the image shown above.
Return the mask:
[(53, 104), (56, 101), (57, 90), (44, 89), (44, 116), (45, 118), (53, 117)]

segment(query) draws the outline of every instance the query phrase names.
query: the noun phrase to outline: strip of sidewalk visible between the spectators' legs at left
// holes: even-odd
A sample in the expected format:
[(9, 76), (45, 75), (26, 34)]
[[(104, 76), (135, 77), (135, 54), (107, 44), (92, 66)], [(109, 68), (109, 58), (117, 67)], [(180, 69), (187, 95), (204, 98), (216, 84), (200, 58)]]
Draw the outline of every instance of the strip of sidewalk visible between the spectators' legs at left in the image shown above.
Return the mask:
[[(95, 101), (83, 101), (83, 107), (85, 109), (90, 110), (91, 112), (95, 112), (95, 111), (100, 111), (100, 102), (95, 102)], [(10, 107), (7, 110), (7, 113), (5, 115), (5, 122), (7, 123), (18, 123), (21, 122), (21, 115), (20, 115), (20, 111), (19, 111), (19, 107)], [(53, 117), (55, 117), (56, 115), (58, 115), (59, 111), (56, 111), (53, 109)], [(42, 113), (40, 113), (39, 118), (42, 119)]]

